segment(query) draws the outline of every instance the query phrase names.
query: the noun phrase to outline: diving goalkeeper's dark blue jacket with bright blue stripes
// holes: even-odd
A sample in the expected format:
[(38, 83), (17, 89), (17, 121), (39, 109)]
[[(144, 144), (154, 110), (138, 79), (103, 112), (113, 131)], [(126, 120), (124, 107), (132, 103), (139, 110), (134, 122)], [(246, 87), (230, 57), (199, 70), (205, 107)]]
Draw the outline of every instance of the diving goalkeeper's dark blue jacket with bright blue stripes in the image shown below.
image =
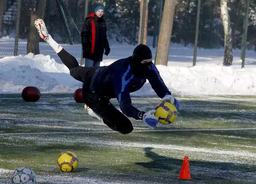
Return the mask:
[(138, 91), (146, 80), (160, 98), (166, 94), (171, 95), (171, 92), (164, 84), (154, 63), (151, 63), (144, 75), (134, 76), (128, 62), (129, 58), (119, 59), (108, 66), (99, 67), (92, 76), (90, 91), (95, 92), (99, 97), (117, 98), (122, 113), (138, 119), (140, 111), (132, 106), (130, 93)]

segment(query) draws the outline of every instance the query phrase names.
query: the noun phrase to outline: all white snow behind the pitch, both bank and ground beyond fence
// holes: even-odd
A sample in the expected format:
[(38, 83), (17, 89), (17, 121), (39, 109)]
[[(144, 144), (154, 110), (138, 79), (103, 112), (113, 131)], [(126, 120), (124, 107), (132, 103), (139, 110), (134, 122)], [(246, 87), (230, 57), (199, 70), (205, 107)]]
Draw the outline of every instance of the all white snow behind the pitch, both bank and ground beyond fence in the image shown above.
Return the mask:
[[(0, 39), (0, 57), (13, 55), (13, 38)], [(9, 45), (8, 45), (9, 44)], [(151, 40), (148, 39), (148, 45)], [(80, 63), (81, 46), (62, 44)], [(100, 65), (109, 65), (128, 57), (135, 46), (110, 42), (110, 55), (104, 55)], [(155, 48), (151, 48), (153, 55)], [(73, 93), (82, 84), (69, 75), (54, 50), (40, 42), (40, 52), (26, 53), (26, 40), (19, 41), (19, 56), (0, 59), (0, 93), (20, 93), (26, 86), (36, 86), (42, 93)], [(157, 65), (167, 87), (175, 95), (255, 95), (256, 53), (246, 51), (246, 65), (241, 69), (240, 50), (234, 49), (234, 61), (223, 66), (223, 49), (198, 49), (196, 66), (192, 67), (193, 47), (170, 45), (168, 66)], [(154, 57), (154, 56), (153, 56)], [(149, 83), (132, 95), (155, 95)]]

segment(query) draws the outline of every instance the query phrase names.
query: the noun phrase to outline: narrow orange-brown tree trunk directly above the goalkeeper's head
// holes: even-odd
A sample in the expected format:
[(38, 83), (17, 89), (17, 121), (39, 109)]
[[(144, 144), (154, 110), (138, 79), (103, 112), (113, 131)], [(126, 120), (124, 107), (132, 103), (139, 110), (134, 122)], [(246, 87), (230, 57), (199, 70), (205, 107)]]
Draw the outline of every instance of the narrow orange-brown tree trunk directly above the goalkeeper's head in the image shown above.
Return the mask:
[[(142, 14), (143, 14), (143, 5), (146, 3), (146, 12), (145, 12), (145, 18), (142, 20)], [(140, 30), (139, 30), (139, 40), (138, 44), (140, 44), (140, 38), (141, 38), (141, 29), (142, 29), (142, 21), (144, 21), (144, 31), (143, 31), (143, 44), (147, 44), (147, 29), (148, 29), (148, 0), (141, 0), (140, 1)]]

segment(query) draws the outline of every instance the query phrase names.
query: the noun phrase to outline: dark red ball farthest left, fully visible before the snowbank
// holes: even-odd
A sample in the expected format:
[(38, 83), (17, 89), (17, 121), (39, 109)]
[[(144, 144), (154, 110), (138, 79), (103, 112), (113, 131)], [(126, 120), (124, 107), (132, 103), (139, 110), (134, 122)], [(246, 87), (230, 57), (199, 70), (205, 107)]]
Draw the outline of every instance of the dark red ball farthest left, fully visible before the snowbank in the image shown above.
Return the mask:
[(22, 98), (27, 102), (36, 102), (39, 100), (41, 93), (37, 87), (28, 86), (22, 90), (21, 95)]

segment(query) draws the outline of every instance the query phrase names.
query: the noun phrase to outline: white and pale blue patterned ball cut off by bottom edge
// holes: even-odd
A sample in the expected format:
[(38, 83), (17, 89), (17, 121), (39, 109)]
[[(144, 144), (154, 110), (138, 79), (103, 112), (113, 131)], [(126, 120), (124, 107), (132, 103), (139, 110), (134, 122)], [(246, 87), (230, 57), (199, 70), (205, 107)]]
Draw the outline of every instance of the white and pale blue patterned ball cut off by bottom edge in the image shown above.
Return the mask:
[(35, 184), (36, 174), (28, 167), (19, 167), (12, 173), (12, 184)]

